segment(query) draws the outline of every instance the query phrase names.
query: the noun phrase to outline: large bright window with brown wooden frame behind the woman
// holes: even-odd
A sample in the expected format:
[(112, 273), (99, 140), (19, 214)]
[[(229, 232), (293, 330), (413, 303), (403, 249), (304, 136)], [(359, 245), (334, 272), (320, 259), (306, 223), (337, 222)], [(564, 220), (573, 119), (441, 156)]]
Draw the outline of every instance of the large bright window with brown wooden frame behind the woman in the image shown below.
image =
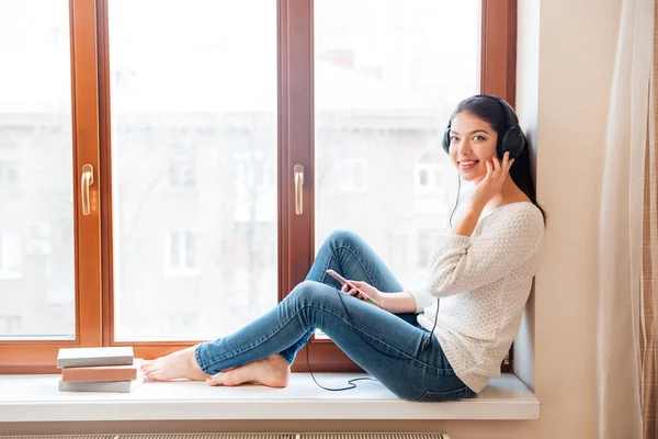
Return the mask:
[[(514, 101), (512, 0), (35, 1), (0, 2), (0, 309), (30, 341), (0, 342), (10, 372), (234, 331), (336, 228), (416, 283), (456, 188), (444, 121)], [(314, 370), (355, 369), (311, 344)]]

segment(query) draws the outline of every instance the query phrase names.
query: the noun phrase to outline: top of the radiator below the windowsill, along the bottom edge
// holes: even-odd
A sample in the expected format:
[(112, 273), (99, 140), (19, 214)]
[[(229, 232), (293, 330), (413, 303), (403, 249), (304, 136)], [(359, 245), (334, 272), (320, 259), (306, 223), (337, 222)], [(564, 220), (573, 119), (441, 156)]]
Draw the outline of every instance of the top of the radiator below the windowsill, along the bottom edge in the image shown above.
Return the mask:
[(303, 432), (303, 434), (215, 434), (215, 435), (43, 435), (0, 436), (0, 439), (450, 439), (443, 432)]

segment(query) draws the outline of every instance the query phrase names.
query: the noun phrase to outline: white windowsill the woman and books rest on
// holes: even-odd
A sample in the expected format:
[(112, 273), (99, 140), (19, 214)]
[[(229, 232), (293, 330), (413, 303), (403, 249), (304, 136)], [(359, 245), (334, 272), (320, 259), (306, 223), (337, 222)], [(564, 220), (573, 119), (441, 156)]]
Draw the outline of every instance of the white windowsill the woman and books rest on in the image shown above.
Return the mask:
[[(316, 373), (326, 387), (359, 374)], [(146, 382), (133, 393), (59, 392), (58, 375), (0, 375), (0, 423), (201, 419), (538, 419), (540, 402), (512, 374), (477, 397), (451, 403), (397, 398), (381, 383), (328, 392), (307, 373), (286, 389), (211, 387), (204, 382)]]

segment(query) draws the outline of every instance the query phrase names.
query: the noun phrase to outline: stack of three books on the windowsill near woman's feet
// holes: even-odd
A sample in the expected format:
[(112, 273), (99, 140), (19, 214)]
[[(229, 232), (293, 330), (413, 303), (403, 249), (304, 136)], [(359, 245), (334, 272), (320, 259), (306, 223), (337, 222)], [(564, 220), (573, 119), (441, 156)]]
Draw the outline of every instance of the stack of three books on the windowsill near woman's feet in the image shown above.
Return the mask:
[(144, 382), (132, 347), (59, 349), (60, 392), (129, 393)]

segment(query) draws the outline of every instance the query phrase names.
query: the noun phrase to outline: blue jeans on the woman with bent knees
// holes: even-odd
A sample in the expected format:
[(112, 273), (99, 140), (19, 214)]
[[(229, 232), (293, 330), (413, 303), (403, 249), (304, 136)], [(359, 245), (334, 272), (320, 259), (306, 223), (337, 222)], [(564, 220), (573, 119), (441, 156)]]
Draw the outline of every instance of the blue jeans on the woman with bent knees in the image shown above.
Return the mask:
[(274, 353), (292, 364), (315, 328), (320, 328), (400, 398), (440, 402), (475, 395), (455, 375), (435, 337), (427, 349), (421, 349), (429, 331), (418, 325), (415, 314), (392, 314), (341, 293), (340, 283), (326, 274), (329, 268), (382, 292), (402, 291), (362, 238), (337, 230), (318, 251), (306, 280), (274, 309), (235, 334), (196, 347), (201, 369), (213, 375)]

